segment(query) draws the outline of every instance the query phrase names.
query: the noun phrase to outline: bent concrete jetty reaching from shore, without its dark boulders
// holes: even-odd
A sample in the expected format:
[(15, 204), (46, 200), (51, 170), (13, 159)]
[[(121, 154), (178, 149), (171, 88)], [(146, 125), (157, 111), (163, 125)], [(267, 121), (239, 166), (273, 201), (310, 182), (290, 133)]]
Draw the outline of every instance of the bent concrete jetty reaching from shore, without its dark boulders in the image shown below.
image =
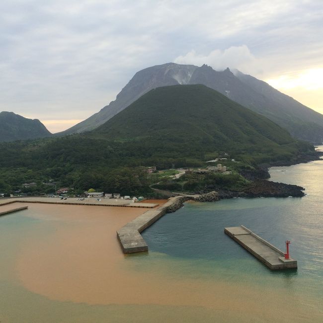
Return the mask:
[(177, 198), (170, 197), (161, 207), (143, 213), (117, 231), (123, 253), (148, 251), (148, 245), (140, 233), (160, 219)]

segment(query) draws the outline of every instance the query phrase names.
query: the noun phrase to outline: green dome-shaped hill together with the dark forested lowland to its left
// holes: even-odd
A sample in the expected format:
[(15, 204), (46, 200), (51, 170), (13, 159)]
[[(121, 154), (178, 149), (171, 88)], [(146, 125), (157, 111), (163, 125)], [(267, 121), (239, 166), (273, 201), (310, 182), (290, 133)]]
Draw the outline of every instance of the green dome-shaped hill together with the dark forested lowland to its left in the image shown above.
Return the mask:
[(46, 184), (55, 181), (125, 195), (151, 191), (141, 166), (203, 167), (224, 154), (255, 166), (314, 155), (312, 145), (204, 85), (159, 87), (92, 132), (0, 143), (0, 151), (0, 193), (29, 182), (37, 186), (28, 193), (52, 192)]

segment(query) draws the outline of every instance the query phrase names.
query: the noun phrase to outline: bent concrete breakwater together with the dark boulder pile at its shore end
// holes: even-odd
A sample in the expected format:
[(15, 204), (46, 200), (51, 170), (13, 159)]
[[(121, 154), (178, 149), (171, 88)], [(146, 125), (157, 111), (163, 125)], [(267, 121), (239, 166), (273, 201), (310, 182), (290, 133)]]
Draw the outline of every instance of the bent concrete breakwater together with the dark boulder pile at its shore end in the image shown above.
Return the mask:
[(183, 206), (183, 203), (188, 200), (211, 202), (218, 201), (219, 196), (217, 192), (210, 192), (200, 196), (170, 197), (168, 202), (166, 202), (163, 206), (145, 212), (117, 231), (117, 237), (121, 244), (123, 253), (148, 251), (148, 245), (140, 233), (160, 219), (164, 214), (175, 212), (176, 210), (180, 209)]

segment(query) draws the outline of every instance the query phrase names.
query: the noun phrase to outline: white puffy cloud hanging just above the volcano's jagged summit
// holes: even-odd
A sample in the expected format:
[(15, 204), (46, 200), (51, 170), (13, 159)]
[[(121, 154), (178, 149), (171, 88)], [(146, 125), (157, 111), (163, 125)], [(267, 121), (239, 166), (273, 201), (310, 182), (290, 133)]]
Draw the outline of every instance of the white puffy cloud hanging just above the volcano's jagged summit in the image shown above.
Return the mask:
[(247, 70), (251, 73), (256, 69), (257, 60), (251, 54), (246, 45), (232, 46), (225, 50), (215, 49), (209, 54), (198, 54), (195, 50), (191, 50), (184, 56), (178, 56), (174, 59), (178, 64), (193, 64), (201, 66), (207, 64), (217, 71), (225, 70), (227, 67), (231, 69)]

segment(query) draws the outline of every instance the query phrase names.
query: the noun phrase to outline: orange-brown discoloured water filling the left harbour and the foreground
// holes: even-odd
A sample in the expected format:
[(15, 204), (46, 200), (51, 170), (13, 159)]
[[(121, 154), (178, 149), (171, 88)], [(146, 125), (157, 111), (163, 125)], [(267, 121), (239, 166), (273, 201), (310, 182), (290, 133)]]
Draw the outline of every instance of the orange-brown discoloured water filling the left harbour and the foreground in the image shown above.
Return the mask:
[(268, 288), (274, 277), (250, 284), (220, 261), (124, 255), (116, 231), (146, 209), (28, 207), (1, 219), (1, 323), (320, 322), (308, 296)]

